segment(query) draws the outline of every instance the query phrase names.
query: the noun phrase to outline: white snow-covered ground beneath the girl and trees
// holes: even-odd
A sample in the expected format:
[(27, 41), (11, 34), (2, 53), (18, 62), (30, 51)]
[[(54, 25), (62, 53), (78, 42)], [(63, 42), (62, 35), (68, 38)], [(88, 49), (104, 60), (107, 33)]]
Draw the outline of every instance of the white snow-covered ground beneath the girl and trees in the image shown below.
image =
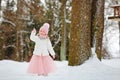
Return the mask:
[(46, 76), (26, 73), (27, 62), (0, 61), (0, 80), (120, 80), (120, 59), (90, 58), (80, 66), (68, 66), (67, 61), (55, 61), (58, 69)]

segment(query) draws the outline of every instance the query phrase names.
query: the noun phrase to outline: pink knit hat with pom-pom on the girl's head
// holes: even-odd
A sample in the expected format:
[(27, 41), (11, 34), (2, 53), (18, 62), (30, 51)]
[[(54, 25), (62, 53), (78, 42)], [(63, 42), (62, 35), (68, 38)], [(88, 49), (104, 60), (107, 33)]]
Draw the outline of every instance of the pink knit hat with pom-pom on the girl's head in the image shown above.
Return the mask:
[(48, 36), (50, 25), (48, 23), (44, 23), (43, 26), (39, 29), (39, 36), (41, 38), (46, 38)]

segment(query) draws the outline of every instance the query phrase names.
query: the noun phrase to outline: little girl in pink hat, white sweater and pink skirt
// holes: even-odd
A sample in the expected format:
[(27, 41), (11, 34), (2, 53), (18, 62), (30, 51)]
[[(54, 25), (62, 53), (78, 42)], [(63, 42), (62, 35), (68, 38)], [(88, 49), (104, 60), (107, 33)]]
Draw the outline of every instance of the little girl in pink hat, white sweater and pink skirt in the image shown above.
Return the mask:
[(37, 35), (35, 28), (31, 32), (30, 39), (35, 42), (35, 48), (28, 66), (28, 73), (47, 76), (56, 68), (52, 59), (55, 58), (55, 52), (48, 37), (48, 31), (49, 24), (44, 23)]

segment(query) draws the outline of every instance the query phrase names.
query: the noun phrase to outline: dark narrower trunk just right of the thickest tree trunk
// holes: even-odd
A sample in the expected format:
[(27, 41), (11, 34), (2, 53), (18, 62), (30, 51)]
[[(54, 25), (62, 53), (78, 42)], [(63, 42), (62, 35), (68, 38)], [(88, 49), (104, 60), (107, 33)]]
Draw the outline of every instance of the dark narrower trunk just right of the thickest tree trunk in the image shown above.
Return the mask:
[(104, 29), (104, 0), (93, 0), (92, 2), (92, 32), (95, 35), (96, 54), (101, 60), (102, 39)]

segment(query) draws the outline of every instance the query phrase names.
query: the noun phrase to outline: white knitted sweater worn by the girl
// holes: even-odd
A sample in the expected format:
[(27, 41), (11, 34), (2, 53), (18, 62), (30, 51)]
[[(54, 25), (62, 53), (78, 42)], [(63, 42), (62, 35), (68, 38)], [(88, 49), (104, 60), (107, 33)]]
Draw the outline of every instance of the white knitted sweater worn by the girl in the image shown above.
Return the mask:
[(39, 56), (48, 56), (49, 54), (55, 55), (50, 39), (41, 39), (35, 34), (36, 33), (32, 31), (30, 35), (30, 39), (35, 42), (33, 54)]

